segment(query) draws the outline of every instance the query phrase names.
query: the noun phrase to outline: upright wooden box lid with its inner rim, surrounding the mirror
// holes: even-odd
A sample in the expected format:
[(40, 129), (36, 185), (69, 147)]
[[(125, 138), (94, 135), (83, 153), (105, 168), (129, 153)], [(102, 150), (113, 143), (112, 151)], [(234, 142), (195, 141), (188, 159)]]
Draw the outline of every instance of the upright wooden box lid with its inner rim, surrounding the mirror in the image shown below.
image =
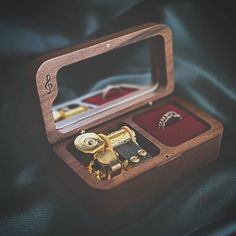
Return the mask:
[[(143, 40), (150, 40), (151, 87), (116, 99), (101, 109), (77, 117), (73, 122), (57, 127), (53, 117), (53, 102), (58, 94), (57, 73), (63, 67), (81, 62)], [(38, 60), (36, 85), (41, 104), (47, 138), (56, 143), (81, 130), (99, 125), (147, 103), (169, 95), (174, 89), (172, 36), (162, 24), (147, 23), (127, 30), (91, 40), (77, 46), (59, 50)]]

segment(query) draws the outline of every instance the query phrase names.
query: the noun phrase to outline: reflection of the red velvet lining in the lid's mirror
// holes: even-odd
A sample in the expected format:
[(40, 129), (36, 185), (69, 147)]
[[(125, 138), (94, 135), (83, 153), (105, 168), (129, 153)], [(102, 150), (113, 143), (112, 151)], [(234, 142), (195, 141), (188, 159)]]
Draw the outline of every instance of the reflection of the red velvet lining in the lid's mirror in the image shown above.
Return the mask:
[(99, 93), (95, 96), (84, 99), (83, 102), (90, 103), (90, 104), (93, 104), (93, 105), (102, 105), (102, 104), (105, 104), (107, 102), (111, 102), (114, 99), (123, 97), (123, 96), (125, 96), (129, 93), (134, 92), (134, 91), (137, 91), (137, 88), (121, 87), (120, 89), (111, 89), (107, 93), (105, 99), (102, 97), (102, 94)]

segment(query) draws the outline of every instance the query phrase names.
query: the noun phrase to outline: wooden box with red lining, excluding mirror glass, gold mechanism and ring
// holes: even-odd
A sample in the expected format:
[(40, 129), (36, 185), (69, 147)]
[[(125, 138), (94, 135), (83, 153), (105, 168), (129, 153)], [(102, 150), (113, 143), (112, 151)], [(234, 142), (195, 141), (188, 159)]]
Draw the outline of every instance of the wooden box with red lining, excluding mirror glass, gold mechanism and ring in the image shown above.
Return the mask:
[[(149, 40), (151, 47), (151, 86), (109, 101), (68, 124), (63, 121), (64, 125), (57, 127), (52, 107), (58, 94), (58, 71), (142, 40)], [(74, 190), (96, 212), (119, 212), (218, 156), (221, 123), (189, 103), (168, 96), (174, 90), (174, 71), (171, 31), (165, 25), (144, 24), (50, 54), (41, 59), (36, 84), (48, 140), (78, 176)], [(158, 130), (158, 120), (167, 111), (181, 114), (182, 120)], [(78, 161), (74, 139), (82, 130), (107, 134), (122, 125), (135, 131), (138, 143), (152, 158), (110, 180), (98, 180)]]

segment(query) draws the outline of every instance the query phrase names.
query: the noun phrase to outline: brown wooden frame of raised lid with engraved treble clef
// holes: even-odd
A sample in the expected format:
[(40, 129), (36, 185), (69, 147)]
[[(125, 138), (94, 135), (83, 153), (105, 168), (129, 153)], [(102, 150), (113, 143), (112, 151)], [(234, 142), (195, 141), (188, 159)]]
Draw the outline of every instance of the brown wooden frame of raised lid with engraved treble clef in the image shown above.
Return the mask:
[[(165, 77), (164, 79), (161, 78), (158, 92), (153, 92), (142, 97), (141, 99), (136, 99), (130, 103), (122, 104), (122, 108), (121, 106), (116, 106), (114, 109), (112, 108), (100, 113), (99, 116), (89, 117), (86, 120), (68, 125), (65, 128), (56, 129), (52, 114), (52, 104), (58, 94), (56, 76), (62, 67), (155, 36), (161, 36), (163, 38), (165, 54), (164, 64), (162, 64), (162, 67), (158, 68), (159, 76), (164, 75)], [(160, 52), (157, 52), (157, 54), (158, 53)], [(97, 125), (114, 118), (118, 114), (124, 114), (125, 112), (142, 106), (147, 102), (170, 94), (174, 89), (172, 59), (171, 31), (167, 26), (155, 23), (148, 23), (138, 27), (133, 27), (65, 50), (60, 50), (39, 59), (39, 67), (36, 72), (36, 85), (49, 142), (56, 143), (66, 137), (76, 134), (79, 129), (90, 128), (93, 125)], [(158, 60), (161, 61), (163, 58), (159, 58)], [(158, 75), (158, 73), (156, 73), (156, 75)], [(157, 80), (159, 78), (155, 76), (154, 79)]]

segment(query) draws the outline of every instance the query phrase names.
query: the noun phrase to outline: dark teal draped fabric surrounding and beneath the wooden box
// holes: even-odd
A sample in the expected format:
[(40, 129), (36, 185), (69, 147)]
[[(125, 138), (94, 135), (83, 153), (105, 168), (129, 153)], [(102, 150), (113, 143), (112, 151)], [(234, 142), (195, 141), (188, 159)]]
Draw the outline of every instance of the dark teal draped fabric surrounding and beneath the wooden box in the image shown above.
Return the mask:
[[(234, 9), (233, 1), (1, 1), (0, 235), (236, 234)], [(175, 94), (224, 124), (221, 154), (104, 220), (55, 174), (28, 71), (44, 53), (149, 21), (173, 31)], [(61, 177), (70, 174), (58, 162)]]

